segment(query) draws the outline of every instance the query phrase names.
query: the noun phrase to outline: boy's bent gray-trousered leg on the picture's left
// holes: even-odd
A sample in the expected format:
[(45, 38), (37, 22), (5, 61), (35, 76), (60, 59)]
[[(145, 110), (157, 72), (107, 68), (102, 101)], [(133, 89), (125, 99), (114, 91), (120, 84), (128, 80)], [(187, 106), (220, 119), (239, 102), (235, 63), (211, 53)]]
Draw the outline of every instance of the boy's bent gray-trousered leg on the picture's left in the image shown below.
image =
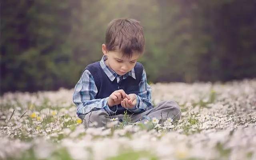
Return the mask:
[(109, 116), (103, 110), (91, 111), (84, 117), (85, 128), (88, 127), (106, 127), (107, 123), (112, 122), (112, 118), (122, 119), (122, 115)]

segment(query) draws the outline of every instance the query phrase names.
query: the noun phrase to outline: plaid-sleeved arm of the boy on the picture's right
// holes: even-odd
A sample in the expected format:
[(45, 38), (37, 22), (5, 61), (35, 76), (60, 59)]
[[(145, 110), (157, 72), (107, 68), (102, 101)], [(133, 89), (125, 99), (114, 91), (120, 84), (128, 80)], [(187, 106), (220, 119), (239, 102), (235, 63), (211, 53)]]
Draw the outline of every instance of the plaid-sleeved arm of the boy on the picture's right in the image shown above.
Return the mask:
[(134, 113), (141, 113), (154, 107), (151, 100), (151, 87), (147, 83), (146, 71), (143, 69), (142, 79), (139, 83), (139, 93), (136, 95), (137, 103), (134, 108), (128, 109)]

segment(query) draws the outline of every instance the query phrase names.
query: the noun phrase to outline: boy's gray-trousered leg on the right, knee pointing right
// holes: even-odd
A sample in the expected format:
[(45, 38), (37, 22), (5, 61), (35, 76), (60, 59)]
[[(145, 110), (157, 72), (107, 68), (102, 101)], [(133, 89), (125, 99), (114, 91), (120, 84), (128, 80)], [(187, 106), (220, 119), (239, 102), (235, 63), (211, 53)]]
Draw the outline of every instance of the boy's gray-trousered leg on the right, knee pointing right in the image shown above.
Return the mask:
[(132, 115), (132, 122), (144, 122), (146, 119), (151, 120), (152, 118), (157, 118), (160, 123), (167, 118), (172, 118), (172, 120), (179, 120), (181, 115), (180, 106), (173, 100), (161, 101), (156, 107), (146, 110), (140, 114)]

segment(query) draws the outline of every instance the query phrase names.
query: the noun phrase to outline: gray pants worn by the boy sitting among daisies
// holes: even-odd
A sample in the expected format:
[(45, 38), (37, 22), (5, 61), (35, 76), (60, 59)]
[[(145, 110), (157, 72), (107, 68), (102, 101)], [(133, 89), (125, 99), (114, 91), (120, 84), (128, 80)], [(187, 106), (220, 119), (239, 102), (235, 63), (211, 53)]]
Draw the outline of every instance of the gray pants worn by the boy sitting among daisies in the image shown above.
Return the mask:
[[(163, 122), (167, 118), (172, 118), (172, 120), (179, 120), (181, 115), (181, 110), (178, 104), (172, 100), (161, 101), (156, 107), (146, 110), (145, 112), (139, 114), (129, 115), (131, 122), (144, 122), (146, 119), (151, 120), (152, 118), (159, 119), (159, 123)], [(84, 117), (85, 127), (88, 128), (93, 122), (97, 122), (94, 127), (105, 127), (107, 123), (111, 122), (112, 118), (118, 118), (118, 121), (122, 122), (124, 114), (118, 114), (115, 116), (109, 116), (107, 112), (102, 110), (91, 111)]]

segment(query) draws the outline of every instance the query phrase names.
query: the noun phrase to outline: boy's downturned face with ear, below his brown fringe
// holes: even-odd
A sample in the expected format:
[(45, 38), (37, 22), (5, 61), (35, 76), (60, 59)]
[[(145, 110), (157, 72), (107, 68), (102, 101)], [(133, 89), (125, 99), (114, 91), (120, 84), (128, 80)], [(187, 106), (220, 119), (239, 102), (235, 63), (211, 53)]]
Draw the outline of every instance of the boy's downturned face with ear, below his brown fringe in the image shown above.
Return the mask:
[(102, 52), (104, 55), (108, 57), (105, 61), (106, 65), (109, 66), (116, 74), (120, 76), (130, 72), (132, 68), (134, 68), (140, 54), (132, 54), (132, 57), (129, 59), (127, 57), (123, 57), (121, 52), (118, 51), (107, 51), (106, 45), (102, 44)]

